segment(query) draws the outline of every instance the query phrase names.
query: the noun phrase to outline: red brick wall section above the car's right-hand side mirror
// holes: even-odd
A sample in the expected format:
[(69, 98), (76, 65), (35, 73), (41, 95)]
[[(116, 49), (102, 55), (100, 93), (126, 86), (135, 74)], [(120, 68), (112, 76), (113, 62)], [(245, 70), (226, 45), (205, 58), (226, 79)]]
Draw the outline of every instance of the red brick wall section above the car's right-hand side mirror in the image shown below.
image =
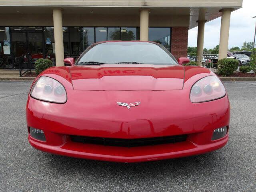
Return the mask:
[(188, 27), (172, 27), (171, 53), (178, 60), (188, 55)]

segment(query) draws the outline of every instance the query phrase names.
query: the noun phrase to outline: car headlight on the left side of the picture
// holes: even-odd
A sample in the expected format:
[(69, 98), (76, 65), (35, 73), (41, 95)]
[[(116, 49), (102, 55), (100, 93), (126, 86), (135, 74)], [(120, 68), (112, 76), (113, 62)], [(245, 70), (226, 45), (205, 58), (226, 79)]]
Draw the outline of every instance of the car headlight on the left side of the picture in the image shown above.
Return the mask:
[(34, 83), (30, 95), (38, 100), (65, 103), (67, 101), (67, 94), (64, 86), (57, 80), (41, 76)]

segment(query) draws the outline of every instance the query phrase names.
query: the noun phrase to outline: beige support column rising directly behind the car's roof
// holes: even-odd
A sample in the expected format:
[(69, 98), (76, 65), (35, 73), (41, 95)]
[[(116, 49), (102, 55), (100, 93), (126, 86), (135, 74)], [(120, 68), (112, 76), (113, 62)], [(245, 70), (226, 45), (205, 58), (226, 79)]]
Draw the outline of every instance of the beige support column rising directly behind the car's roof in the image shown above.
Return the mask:
[(140, 40), (148, 41), (148, 18), (149, 9), (140, 10)]

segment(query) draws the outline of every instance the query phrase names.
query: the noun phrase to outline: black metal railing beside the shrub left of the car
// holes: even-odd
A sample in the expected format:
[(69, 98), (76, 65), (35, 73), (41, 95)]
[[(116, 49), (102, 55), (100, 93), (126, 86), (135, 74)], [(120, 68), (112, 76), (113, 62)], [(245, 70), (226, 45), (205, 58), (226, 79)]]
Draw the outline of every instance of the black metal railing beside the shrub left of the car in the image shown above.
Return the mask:
[(28, 71), (31, 72), (31, 54), (24, 54), (16, 57), (15, 60), (19, 64), (20, 77)]

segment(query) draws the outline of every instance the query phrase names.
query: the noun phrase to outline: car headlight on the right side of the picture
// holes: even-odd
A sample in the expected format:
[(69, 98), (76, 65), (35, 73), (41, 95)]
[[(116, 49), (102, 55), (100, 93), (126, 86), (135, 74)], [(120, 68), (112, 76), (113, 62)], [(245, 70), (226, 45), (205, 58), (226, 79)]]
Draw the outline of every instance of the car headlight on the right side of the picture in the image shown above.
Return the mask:
[(208, 76), (196, 82), (190, 90), (190, 101), (200, 103), (224, 97), (222, 82), (216, 76)]

